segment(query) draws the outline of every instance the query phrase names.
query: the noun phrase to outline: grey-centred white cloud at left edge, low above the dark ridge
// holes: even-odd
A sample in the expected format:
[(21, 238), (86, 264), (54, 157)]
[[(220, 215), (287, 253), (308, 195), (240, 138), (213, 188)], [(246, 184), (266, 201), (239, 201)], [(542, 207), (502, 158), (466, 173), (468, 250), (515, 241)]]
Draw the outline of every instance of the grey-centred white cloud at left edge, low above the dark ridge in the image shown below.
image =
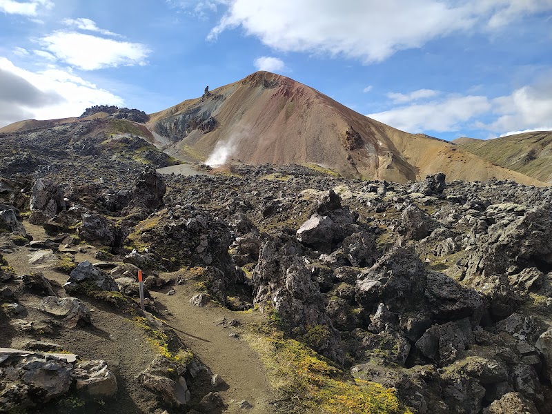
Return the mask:
[(124, 106), (121, 97), (67, 70), (34, 73), (0, 57), (0, 127), (22, 119), (76, 117), (102, 103)]

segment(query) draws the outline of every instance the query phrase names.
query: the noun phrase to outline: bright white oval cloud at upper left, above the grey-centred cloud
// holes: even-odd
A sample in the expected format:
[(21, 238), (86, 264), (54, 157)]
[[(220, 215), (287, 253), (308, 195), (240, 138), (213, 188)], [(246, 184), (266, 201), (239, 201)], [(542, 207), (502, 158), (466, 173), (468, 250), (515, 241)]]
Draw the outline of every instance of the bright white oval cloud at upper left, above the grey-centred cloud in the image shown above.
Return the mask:
[(141, 43), (116, 41), (77, 32), (54, 32), (43, 37), (41, 43), (60, 61), (83, 70), (144, 66), (146, 57), (151, 52)]

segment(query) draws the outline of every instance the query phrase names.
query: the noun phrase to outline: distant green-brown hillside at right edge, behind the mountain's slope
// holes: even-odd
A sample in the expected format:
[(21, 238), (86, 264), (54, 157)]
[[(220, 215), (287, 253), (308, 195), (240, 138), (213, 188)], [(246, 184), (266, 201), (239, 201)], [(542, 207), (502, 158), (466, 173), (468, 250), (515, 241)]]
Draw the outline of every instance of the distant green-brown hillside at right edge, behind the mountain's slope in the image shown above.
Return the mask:
[(453, 142), (494, 164), (552, 183), (552, 131), (489, 140), (458, 138)]

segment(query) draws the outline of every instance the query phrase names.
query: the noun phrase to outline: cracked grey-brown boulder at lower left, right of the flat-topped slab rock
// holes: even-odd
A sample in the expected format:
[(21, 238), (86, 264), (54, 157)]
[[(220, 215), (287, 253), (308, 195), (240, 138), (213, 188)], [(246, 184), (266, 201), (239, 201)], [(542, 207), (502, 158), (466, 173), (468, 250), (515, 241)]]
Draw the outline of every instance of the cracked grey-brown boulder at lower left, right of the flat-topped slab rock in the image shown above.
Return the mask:
[(109, 371), (105, 361), (75, 362), (71, 377), (76, 381), (77, 391), (88, 397), (112, 397), (117, 393), (117, 378)]

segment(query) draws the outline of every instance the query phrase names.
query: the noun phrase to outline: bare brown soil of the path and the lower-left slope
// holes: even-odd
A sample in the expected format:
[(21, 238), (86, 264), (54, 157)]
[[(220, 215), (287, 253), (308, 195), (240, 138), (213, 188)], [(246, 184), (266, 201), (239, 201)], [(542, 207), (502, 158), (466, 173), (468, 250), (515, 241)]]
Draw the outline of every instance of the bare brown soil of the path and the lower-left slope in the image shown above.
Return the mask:
[[(26, 230), (35, 240), (48, 237), (41, 226), (24, 223)], [(82, 247), (82, 246), (81, 246)], [(84, 253), (75, 255), (76, 262), (89, 260), (94, 263), (95, 248), (87, 246)], [(30, 266), (27, 246), (17, 248), (12, 253), (3, 253), (17, 275), (40, 271), (54, 282), (54, 290), (59, 296), (66, 296), (62, 286), (68, 279), (67, 275), (52, 269), (52, 265)], [(171, 275), (161, 275), (170, 277)], [(2, 324), (0, 318), (0, 346), (21, 348), (30, 339), (43, 340), (59, 344), (70, 353), (77, 353), (81, 359), (105, 359), (112, 371), (117, 375), (119, 391), (112, 400), (106, 400), (105, 405), (92, 411), (103, 413), (161, 413), (155, 410), (155, 395), (137, 384), (136, 377), (155, 358), (156, 353), (144, 337), (144, 331), (139, 328), (129, 315), (124, 315), (117, 308), (106, 302), (101, 302), (86, 296), (79, 299), (86, 303), (92, 312), (92, 326), (86, 328), (67, 329), (46, 316), (37, 309), (41, 297), (24, 291), (19, 283), (8, 284), (17, 295), (19, 302), (25, 306), (27, 313), (17, 315), (17, 318), (33, 321), (43, 326), (38, 331), (23, 332), (19, 328)], [(221, 413), (243, 412), (237, 407), (237, 402), (248, 400), (253, 405), (249, 413), (272, 413), (270, 400), (273, 391), (266, 379), (262, 362), (248, 345), (239, 339), (239, 332), (249, 322), (257, 322), (263, 315), (258, 313), (234, 313), (209, 304), (198, 308), (190, 304), (189, 299), (195, 293), (192, 282), (185, 286), (175, 286), (176, 294), (166, 295), (170, 287), (162, 292), (150, 291), (158, 308), (168, 316), (166, 322), (175, 328), (182, 342), (189, 346), (201, 362), (206, 364), (214, 374), (221, 375), (226, 385), (219, 387), (219, 395), (226, 404)], [(239, 328), (224, 328), (218, 324), (222, 318), (238, 319), (242, 322)], [(238, 337), (230, 337), (230, 333)], [(193, 396), (191, 404), (197, 403), (199, 397), (209, 391), (215, 391), (205, 380), (197, 380), (189, 384)], [(58, 411), (55, 402), (41, 408), (41, 413), (54, 414)], [(186, 410), (182, 411), (186, 412)]]

